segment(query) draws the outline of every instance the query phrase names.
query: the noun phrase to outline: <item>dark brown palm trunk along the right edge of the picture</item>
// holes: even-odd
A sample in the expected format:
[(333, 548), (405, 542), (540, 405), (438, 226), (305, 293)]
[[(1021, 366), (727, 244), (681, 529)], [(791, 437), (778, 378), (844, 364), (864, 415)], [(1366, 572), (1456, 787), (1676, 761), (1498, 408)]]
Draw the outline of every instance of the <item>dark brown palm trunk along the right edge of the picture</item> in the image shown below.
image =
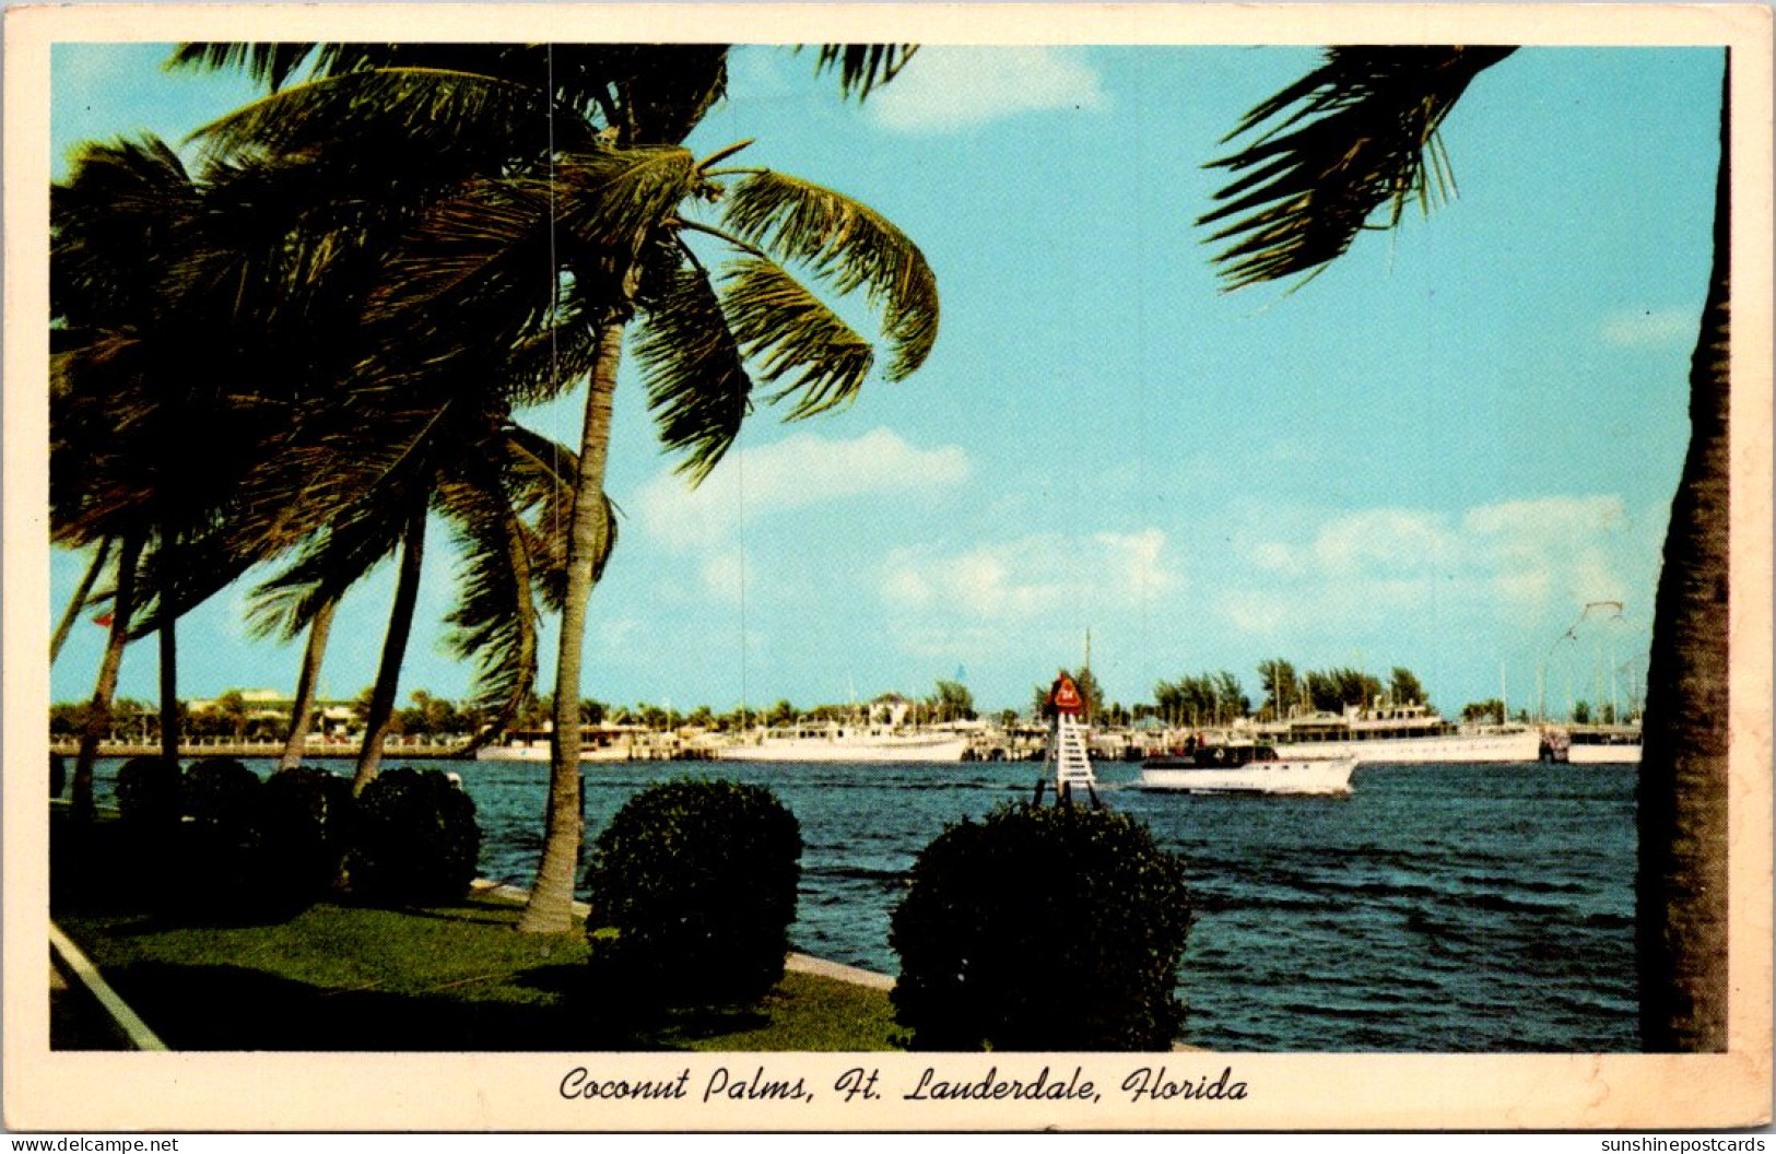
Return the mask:
[(1646, 669), (1637, 788), (1641, 1044), (1726, 1049), (1728, 881), (1728, 96), (1714, 270), (1689, 373), (1689, 454), (1671, 504)]

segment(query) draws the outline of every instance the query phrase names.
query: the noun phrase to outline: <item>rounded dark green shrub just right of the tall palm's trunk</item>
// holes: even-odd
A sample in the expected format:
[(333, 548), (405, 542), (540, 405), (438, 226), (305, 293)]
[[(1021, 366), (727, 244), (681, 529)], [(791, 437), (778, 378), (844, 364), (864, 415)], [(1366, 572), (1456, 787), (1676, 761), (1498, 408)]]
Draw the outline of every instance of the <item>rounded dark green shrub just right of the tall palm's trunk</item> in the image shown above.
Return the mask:
[(758, 1001), (783, 978), (799, 882), (801, 826), (771, 790), (670, 781), (636, 794), (588, 873), (600, 985), (648, 1007)]

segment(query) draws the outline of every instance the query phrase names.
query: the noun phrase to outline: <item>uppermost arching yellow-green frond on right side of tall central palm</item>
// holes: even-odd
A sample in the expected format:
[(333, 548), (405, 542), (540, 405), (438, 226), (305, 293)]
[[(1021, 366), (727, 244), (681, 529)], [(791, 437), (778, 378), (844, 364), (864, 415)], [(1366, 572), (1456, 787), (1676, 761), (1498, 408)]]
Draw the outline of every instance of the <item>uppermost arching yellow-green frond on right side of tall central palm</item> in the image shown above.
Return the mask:
[(863, 288), (893, 348), (888, 380), (909, 376), (931, 355), (938, 279), (918, 245), (876, 209), (781, 172), (758, 172), (728, 192), (723, 220), (748, 243), (806, 265), (840, 295)]

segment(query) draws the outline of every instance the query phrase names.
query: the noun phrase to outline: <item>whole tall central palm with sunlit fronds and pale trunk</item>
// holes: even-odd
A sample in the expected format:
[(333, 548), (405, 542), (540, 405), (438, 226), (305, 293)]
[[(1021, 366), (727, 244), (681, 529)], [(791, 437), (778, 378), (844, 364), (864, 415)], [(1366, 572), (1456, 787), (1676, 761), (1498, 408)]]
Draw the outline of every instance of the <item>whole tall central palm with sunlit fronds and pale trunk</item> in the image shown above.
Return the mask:
[[(192, 46), (183, 59), (245, 64), (275, 89), (305, 51)], [(821, 66), (838, 67), (845, 91), (861, 94), (906, 55), (835, 48)], [(321, 78), (211, 126), (218, 147), (282, 151), (316, 133), (346, 147), (362, 124), (384, 135), (453, 135), (458, 153), (472, 153), (474, 142), (503, 146), (467, 176), (439, 174), (446, 195), (430, 202), (391, 263), (387, 291), (373, 300), (373, 323), (394, 334), (378, 353), (387, 371), (419, 364), (426, 375), (451, 373), (503, 346), (547, 350), (531, 378), (545, 392), (588, 382), (545, 845), (520, 923), (559, 932), (583, 836), (579, 669), (586, 600), (614, 527), (604, 467), (629, 325), (638, 325), (634, 352), (661, 437), (696, 483), (751, 408), (748, 362), (774, 385), (771, 401), (792, 399), (792, 419), (849, 401), (874, 364), (872, 343), (785, 263), (838, 293), (865, 291), (884, 318), (890, 378), (915, 371), (931, 350), (934, 279), (911, 241), (865, 206), (767, 169), (719, 167), (744, 146), (702, 162), (678, 146), (723, 94), (726, 46), (325, 46), (316, 60)], [(719, 220), (707, 220), (718, 204)], [(730, 256), (719, 279), (703, 247)], [(547, 281), (535, 275), (538, 261)]]

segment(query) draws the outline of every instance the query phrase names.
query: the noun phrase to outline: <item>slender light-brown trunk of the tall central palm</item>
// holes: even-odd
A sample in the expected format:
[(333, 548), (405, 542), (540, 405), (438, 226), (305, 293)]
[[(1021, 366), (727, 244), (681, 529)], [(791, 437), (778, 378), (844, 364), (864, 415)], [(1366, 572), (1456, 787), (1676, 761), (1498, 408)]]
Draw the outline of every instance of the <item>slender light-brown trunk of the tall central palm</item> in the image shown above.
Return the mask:
[(567, 602), (561, 607), (561, 650), (556, 657), (554, 742), (549, 756), (549, 804), (543, 852), (536, 865), (519, 930), (565, 934), (574, 927), (574, 868), (579, 861), (584, 813), (579, 769), (579, 664), (586, 643), (586, 600), (593, 566), (604, 552), (609, 522), (604, 504), (604, 460), (611, 444), (611, 398), (623, 353), (622, 321), (599, 332), (599, 352), (586, 387), (579, 476), (574, 479), (574, 520), (567, 545)]

